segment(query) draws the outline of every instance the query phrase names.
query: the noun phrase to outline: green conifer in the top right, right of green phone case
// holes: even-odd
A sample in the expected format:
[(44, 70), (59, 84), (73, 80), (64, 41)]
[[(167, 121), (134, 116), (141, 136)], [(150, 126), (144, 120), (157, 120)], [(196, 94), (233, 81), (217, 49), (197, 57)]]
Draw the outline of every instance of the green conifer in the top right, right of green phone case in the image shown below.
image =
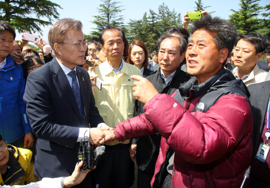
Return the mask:
[(264, 26), (257, 16), (262, 10), (259, 0), (240, 0), (240, 9), (229, 15), (229, 21), (236, 27), (238, 33), (256, 32)]

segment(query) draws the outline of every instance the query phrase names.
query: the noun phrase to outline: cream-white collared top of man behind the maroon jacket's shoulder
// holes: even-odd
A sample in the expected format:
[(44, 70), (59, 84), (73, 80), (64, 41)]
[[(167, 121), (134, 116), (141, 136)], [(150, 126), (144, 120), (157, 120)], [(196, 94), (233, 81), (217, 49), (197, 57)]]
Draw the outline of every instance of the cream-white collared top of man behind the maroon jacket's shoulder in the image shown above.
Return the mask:
[[(235, 67), (231, 72), (235, 76), (236, 79), (240, 79), (238, 77), (238, 67)], [(267, 75), (267, 72), (265, 70), (260, 69), (258, 65), (256, 64), (254, 68), (252, 69), (252, 71), (249, 74), (244, 75), (241, 78), (241, 80), (246, 86), (248, 86), (250, 84), (264, 82), (266, 75)]]

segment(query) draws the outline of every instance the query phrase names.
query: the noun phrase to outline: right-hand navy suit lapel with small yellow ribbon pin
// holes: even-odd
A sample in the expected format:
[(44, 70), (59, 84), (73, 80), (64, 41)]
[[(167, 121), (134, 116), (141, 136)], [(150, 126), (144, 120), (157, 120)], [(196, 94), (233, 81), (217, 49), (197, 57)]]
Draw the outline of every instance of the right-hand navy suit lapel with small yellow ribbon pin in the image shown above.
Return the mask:
[[(84, 115), (86, 116), (87, 112), (86, 112), (86, 79), (85, 76), (82, 74), (81, 70), (79, 67), (76, 67), (76, 74), (77, 74), (77, 78), (78, 78), (78, 82), (79, 82), (79, 91), (80, 91), (80, 96), (81, 96), (81, 104), (83, 105), (83, 109), (84, 109)], [(85, 119), (85, 118), (84, 118)]]

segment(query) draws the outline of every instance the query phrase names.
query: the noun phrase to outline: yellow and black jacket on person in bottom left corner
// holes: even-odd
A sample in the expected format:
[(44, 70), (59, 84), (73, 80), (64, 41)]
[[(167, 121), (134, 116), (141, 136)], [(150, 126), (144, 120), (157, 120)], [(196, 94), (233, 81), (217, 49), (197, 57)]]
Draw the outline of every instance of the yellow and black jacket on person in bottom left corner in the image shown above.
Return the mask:
[(39, 178), (33, 173), (32, 152), (23, 148), (7, 145), (9, 150), (7, 166), (9, 167), (6, 180), (3, 182), (0, 175), (0, 185), (25, 185), (37, 182)]

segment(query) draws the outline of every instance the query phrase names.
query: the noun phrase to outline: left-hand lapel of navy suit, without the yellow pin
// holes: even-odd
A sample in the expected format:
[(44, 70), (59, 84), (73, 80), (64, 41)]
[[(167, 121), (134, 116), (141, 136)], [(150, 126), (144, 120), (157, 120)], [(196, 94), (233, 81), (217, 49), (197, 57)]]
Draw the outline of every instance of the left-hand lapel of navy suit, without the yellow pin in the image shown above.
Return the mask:
[(58, 64), (55, 57), (51, 60), (50, 63), (50, 70), (55, 74), (52, 78), (56, 82), (56, 84), (59, 86), (59, 88), (62, 90), (72, 107), (74, 108), (75, 112), (80, 118), (78, 106), (75, 100), (75, 97), (73, 95), (73, 91), (71, 89), (71, 86), (66, 78), (66, 75), (64, 74), (62, 68)]

